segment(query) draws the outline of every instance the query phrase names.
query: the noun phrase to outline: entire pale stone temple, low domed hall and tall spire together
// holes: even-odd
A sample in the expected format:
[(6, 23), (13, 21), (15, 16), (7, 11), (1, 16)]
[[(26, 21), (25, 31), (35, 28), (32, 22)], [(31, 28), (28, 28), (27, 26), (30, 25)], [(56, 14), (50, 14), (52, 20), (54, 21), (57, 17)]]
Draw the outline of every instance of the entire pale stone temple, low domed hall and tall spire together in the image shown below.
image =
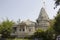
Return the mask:
[(49, 26), (49, 17), (44, 8), (41, 8), (41, 12), (36, 22), (26, 20), (13, 26), (11, 35), (16, 37), (28, 37), (33, 35), (38, 29), (46, 30)]

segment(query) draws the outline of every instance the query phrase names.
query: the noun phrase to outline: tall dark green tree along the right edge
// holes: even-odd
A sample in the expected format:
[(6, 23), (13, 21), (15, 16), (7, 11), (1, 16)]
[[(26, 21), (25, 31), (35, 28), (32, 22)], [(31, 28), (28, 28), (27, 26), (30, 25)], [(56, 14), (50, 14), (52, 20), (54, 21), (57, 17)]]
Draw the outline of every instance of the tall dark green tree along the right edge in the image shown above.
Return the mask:
[(60, 34), (60, 10), (58, 11), (57, 16), (55, 17), (53, 29), (55, 30), (56, 34)]

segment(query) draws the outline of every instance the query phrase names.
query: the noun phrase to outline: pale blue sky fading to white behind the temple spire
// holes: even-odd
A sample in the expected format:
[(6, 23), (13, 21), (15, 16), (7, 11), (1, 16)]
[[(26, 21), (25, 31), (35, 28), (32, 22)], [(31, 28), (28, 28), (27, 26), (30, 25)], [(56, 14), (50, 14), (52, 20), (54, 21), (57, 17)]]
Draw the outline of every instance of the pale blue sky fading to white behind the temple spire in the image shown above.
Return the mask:
[(49, 18), (53, 19), (60, 8), (54, 9), (54, 6), (54, 0), (0, 0), (0, 21), (6, 18), (14, 21), (18, 19), (35, 21), (42, 7), (45, 8)]

